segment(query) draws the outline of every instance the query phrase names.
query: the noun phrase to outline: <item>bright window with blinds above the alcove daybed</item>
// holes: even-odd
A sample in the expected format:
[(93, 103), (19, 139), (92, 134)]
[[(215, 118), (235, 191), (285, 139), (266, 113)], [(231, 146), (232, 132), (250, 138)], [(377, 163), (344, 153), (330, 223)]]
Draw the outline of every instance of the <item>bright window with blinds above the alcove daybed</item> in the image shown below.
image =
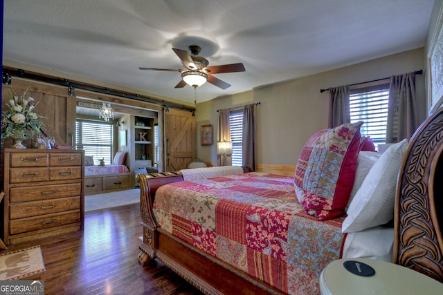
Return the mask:
[(105, 164), (112, 164), (113, 148), (113, 122), (80, 119), (75, 122), (75, 149), (83, 149), (84, 155), (92, 155), (95, 165), (102, 158), (105, 159)]

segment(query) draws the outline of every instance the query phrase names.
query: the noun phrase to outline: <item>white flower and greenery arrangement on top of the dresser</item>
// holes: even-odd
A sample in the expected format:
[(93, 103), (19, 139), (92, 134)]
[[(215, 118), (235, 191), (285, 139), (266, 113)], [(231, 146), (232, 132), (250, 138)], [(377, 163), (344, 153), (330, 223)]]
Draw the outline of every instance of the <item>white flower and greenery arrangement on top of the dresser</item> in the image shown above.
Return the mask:
[(33, 134), (40, 134), (44, 124), (39, 120), (40, 116), (34, 112), (35, 103), (33, 97), (28, 95), (28, 89), (23, 95), (10, 94), (9, 109), (1, 113), (1, 140), (8, 137), (24, 140)]

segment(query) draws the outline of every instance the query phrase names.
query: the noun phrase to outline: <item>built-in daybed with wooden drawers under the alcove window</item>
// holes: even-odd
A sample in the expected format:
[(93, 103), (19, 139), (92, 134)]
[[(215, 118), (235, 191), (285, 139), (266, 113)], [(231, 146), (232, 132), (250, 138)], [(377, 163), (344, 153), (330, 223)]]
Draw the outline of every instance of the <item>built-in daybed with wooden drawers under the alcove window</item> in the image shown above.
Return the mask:
[(107, 193), (131, 189), (131, 175), (125, 165), (126, 153), (118, 152), (113, 164), (96, 165), (91, 156), (85, 156), (84, 191), (85, 195)]

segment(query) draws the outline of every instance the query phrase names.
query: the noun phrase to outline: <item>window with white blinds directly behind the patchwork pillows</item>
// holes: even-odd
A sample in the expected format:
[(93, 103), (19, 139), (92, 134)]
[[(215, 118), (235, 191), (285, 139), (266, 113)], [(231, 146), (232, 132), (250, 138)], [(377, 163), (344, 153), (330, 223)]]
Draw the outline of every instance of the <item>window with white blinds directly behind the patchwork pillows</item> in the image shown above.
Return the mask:
[(371, 137), (374, 144), (386, 142), (389, 84), (354, 89), (350, 94), (351, 123), (363, 121), (361, 135)]

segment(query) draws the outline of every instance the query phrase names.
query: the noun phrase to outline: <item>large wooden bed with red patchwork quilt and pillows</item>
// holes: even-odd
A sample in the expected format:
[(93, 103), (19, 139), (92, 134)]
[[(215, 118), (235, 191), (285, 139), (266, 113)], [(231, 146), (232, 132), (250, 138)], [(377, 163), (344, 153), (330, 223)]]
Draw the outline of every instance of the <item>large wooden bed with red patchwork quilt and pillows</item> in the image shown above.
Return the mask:
[[(443, 184), (437, 181), (443, 173), (443, 111), (428, 117), (410, 142), (393, 145), (402, 149), (389, 148), (365, 176), (354, 171), (360, 187), (347, 187), (356, 193), (346, 200), (325, 201), (318, 198), (319, 187), (307, 189), (314, 181), (312, 174), (306, 180), (306, 171), (314, 169), (307, 159), (317, 151), (313, 142), (321, 136), (308, 140), (293, 178), (247, 169), (186, 181), (179, 171), (138, 175), (143, 225), (138, 262), (147, 265), (156, 258), (205, 294), (319, 294), (318, 275), (328, 263), (370, 255), (443, 282)], [(388, 162), (379, 170), (382, 158), (396, 157), (397, 167)], [(352, 161), (342, 162), (342, 169), (352, 166)], [(392, 193), (373, 185), (373, 172), (381, 181), (395, 179)], [(350, 177), (342, 170), (340, 175)], [(326, 173), (322, 178), (338, 185), (345, 180), (341, 176)], [(369, 212), (371, 202), (381, 206)], [(359, 247), (374, 236), (377, 242), (368, 247), (374, 251), (380, 246), (374, 253)]]

